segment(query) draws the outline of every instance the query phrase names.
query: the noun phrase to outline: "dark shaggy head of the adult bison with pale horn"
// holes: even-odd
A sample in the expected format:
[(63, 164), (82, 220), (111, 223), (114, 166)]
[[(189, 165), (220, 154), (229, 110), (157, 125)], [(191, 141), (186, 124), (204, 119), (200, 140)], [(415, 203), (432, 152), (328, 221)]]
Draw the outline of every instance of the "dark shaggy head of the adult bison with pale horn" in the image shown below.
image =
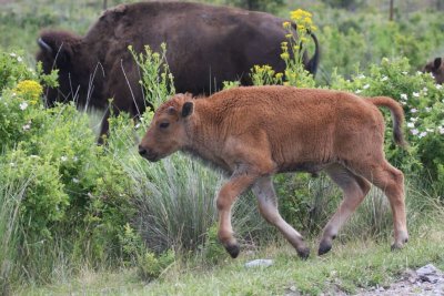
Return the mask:
[[(65, 31), (43, 31), (37, 40), (40, 51), (37, 61), (42, 63), (43, 72), (59, 71), (59, 88), (48, 88), (46, 93), (47, 105), (56, 102), (77, 100), (81, 92), (88, 91), (85, 62), (81, 61), (81, 38)], [(85, 74), (85, 78), (82, 76)], [(82, 86), (83, 84), (87, 85)]]

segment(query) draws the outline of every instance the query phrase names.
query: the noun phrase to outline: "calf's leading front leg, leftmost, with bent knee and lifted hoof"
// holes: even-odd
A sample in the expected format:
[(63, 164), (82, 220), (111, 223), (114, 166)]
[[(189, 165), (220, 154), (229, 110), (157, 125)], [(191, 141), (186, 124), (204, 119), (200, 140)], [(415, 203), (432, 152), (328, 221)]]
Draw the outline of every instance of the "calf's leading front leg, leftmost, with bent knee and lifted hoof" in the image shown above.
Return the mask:
[(225, 247), (231, 257), (235, 258), (239, 255), (240, 248), (236, 239), (233, 236), (231, 226), (231, 206), (235, 198), (242, 194), (254, 182), (256, 176), (250, 173), (234, 172), (230, 181), (224, 184), (219, 192), (216, 206), (219, 211), (219, 239)]

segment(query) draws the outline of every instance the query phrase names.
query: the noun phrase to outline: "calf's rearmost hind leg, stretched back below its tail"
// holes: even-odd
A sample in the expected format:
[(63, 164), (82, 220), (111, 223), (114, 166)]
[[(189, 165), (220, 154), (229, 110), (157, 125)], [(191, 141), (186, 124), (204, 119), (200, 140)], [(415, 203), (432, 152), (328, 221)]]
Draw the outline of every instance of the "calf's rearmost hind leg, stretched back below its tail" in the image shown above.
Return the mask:
[(394, 238), (392, 249), (402, 248), (408, 241), (404, 201), (404, 174), (386, 160), (362, 167), (360, 173), (380, 187), (389, 198), (393, 214)]

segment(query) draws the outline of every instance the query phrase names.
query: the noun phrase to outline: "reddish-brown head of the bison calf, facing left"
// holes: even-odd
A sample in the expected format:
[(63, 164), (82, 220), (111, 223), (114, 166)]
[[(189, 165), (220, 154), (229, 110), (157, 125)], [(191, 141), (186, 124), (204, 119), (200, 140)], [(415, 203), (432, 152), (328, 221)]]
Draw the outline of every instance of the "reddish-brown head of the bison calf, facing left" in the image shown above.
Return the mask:
[(157, 162), (185, 145), (186, 125), (194, 108), (191, 100), (186, 94), (176, 94), (155, 111), (139, 145), (141, 156)]

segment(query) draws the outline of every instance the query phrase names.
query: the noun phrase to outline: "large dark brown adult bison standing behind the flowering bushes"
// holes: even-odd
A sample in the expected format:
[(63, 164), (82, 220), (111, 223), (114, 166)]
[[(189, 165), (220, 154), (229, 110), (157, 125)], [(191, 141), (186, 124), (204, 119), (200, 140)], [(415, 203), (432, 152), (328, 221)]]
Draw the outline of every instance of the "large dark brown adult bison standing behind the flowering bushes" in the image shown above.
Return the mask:
[[(167, 60), (178, 92), (193, 94), (220, 90), (223, 81), (251, 84), (250, 69), (270, 64), (284, 70), (280, 59), (286, 31), (283, 19), (269, 13), (186, 2), (141, 2), (105, 11), (84, 37), (65, 31), (43, 31), (38, 39), (44, 72), (59, 69), (58, 89), (47, 91), (48, 105), (75, 99), (80, 105), (105, 109), (113, 98), (114, 113), (137, 115), (145, 109), (139, 71), (128, 50), (154, 51), (167, 43)], [(315, 53), (304, 54), (313, 74)], [(101, 133), (108, 132), (108, 115)]]

